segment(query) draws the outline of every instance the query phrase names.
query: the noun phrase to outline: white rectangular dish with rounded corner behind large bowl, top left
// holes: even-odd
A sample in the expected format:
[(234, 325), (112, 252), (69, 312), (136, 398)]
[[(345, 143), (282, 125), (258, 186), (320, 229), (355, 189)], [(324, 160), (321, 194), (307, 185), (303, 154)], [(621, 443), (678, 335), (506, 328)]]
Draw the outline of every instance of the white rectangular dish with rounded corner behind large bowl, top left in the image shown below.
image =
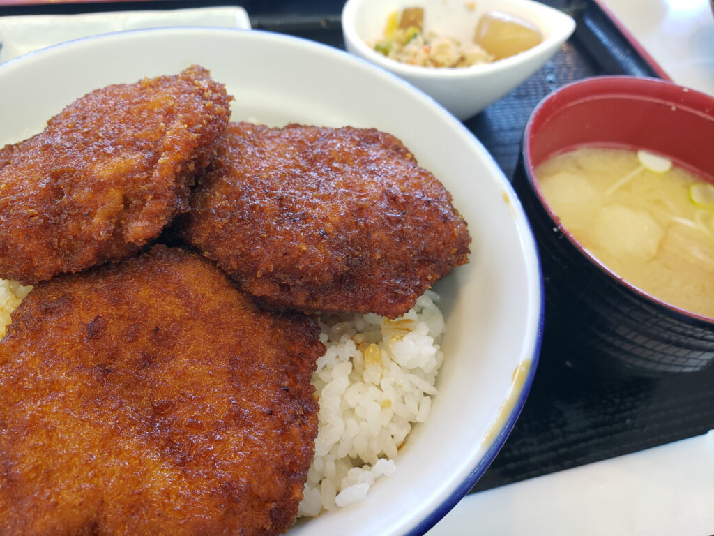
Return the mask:
[(77, 15), (0, 17), (0, 63), (46, 46), (111, 31), (165, 26), (250, 29), (246, 10), (237, 6), (165, 11), (116, 11)]

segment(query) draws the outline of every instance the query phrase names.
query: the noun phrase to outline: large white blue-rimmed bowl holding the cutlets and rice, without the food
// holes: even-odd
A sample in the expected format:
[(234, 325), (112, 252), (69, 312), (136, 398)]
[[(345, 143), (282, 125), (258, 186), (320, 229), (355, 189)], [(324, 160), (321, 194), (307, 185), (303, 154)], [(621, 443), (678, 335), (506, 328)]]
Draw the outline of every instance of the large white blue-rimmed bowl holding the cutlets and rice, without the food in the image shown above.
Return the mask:
[(468, 222), (471, 262), (437, 287), (448, 332), (431, 416), (403, 445), (396, 475), (378, 480), (366, 500), (289, 531), (421, 534), (486, 470), (533, 379), (541, 278), (521, 204), (488, 152), (428, 97), (342, 51), (261, 31), (129, 31), (0, 64), (0, 144), (39, 131), (91, 89), (194, 63), (236, 96), (233, 119), (374, 126), (395, 134), (453, 192)]

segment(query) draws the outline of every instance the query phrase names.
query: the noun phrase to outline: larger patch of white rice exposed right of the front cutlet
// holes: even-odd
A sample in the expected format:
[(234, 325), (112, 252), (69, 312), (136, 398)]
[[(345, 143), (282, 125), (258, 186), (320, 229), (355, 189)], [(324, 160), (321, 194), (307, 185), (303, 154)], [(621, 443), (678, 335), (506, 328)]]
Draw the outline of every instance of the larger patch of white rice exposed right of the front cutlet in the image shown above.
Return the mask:
[(436, 394), (443, 354), (438, 294), (427, 291), (403, 317), (322, 317), (313, 384), (320, 402), (315, 459), (300, 516), (316, 516), (365, 498), (373, 483), (396, 472), (394, 459)]

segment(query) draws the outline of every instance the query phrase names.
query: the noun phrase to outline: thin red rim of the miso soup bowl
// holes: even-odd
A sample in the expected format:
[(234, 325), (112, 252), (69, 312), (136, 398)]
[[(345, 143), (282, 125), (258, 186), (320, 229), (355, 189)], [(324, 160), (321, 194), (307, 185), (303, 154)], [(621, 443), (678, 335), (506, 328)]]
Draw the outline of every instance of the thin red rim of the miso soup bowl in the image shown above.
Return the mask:
[[(714, 0), (713, 0), (714, 1)], [(685, 86), (680, 86), (679, 84), (675, 84), (675, 82), (670, 81), (670, 80), (664, 80), (664, 79), (658, 79), (658, 78), (653, 78), (650, 76), (629, 76), (629, 75), (621, 75), (621, 74), (614, 74), (610, 76), (589, 76), (588, 78), (580, 79), (580, 80), (575, 80), (572, 81), (568, 84), (564, 84), (563, 86), (560, 86), (558, 89), (553, 91), (553, 93), (550, 93), (541, 99), (538, 104), (535, 105), (535, 108), (533, 108), (533, 111), (531, 111), (530, 116), (528, 116), (528, 121), (526, 121), (526, 126), (523, 129), (523, 139), (526, 140), (530, 136), (531, 133), (531, 128), (533, 126), (533, 121), (535, 120), (535, 116), (540, 112), (540, 109), (545, 106), (545, 104), (550, 101), (550, 99), (555, 99), (558, 98), (560, 94), (562, 94), (563, 91), (568, 91), (573, 86), (580, 86), (582, 84), (591, 84), (593, 81), (595, 83), (598, 83), (598, 81), (607, 81), (607, 80), (622, 80), (622, 81), (647, 81), (648, 83), (655, 83), (655, 84), (665, 84), (667, 86), (675, 87), (675, 88), (683, 88), (687, 89), (689, 92), (696, 91), (695, 89), (688, 89), (685, 88)], [(701, 93), (701, 91), (696, 91), (697, 93)], [(609, 91), (610, 94), (615, 94), (617, 95), (617, 91), (611, 90)], [(661, 99), (662, 101), (665, 101), (664, 98)], [(681, 105), (678, 105), (680, 108), (685, 108)], [(694, 112), (693, 112), (694, 113)], [(584, 259), (587, 259), (590, 264), (593, 264), (595, 268), (597, 268), (601, 273), (603, 273), (605, 276), (609, 277), (610, 279), (613, 279), (615, 282), (618, 282), (619, 284), (622, 285), (623, 289), (626, 291), (630, 292), (630, 294), (633, 294), (640, 299), (645, 300), (645, 303), (648, 304), (650, 307), (653, 307), (653, 309), (660, 311), (660, 312), (667, 312), (668, 314), (673, 314), (676, 318), (680, 319), (681, 322), (685, 322), (690, 325), (701, 325), (702, 327), (706, 328), (711, 328), (714, 325), (714, 317), (706, 317), (703, 314), (697, 314), (695, 312), (690, 312), (687, 309), (682, 309), (681, 307), (677, 307), (676, 305), (669, 304), (668, 302), (663, 301), (662, 299), (659, 299), (658, 297), (654, 296), (653, 294), (650, 294), (649, 292), (646, 292), (643, 289), (640, 289), (637, 287), (635, 284), (629, 282), (627, 279), (624, 277), (621, 277), (618, 275), (616, 272), (614, 272), (610, 267), (608, 267), (607, 264), (604, 264), (598, 257), (595, 257), (592, 253), (588, 251), (585, 247), (583, 247), (583, 244), (580, 243), (580, 241), (575, 238), (575, 236), (570, 232), (570, 230), (563, 225), (562, 222), (560, 222), (560, 218), (558, 218), (557, 214), (553, 212), (553, 209), (550, 208), (550, 205), (548, 202), (545, 201), (545, 198), (543, 197), (543, 193), (540, 192), (540, 188), (538, 187), (538, 183), (535, 180), (535, 176), (533, 173), (531, 173), (531, 169), (529, 167), (530, 163), (530, 158), (528, 158), (528, 151), (526, 148), (526, 143), (524, 142), (523, 148), (521, 149), (521, 159), (523, 161), (523, 172), (525, 172), (526, 177), (528, 178), (528, 187), (530, 187), (533, 190), (533, 193), (535, 194), (535, 197), (538, 198), (538, 202), (540, 203), (540, 206), (543, 207), (545, 210), (545, 213), (548, 214), (548, 217), (550, 220), (553, 222), (554, 225), (558, 227), (558, 230), (565, 235), (565, 238), (568, 239), (568, 242), (575, 247), (575, 249), (580, 252), (580, 254), (583, 255)]]

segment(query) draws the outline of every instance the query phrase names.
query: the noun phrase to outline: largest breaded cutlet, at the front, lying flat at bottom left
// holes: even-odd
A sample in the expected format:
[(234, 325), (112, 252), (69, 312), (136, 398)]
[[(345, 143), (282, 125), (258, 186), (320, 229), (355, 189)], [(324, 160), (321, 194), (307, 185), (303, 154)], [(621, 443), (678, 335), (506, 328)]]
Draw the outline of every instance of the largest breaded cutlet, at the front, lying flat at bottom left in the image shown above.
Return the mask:
[(283, 532), (319, 332), (164, 246), (38, 284), (0, 341), (0, 534)]

